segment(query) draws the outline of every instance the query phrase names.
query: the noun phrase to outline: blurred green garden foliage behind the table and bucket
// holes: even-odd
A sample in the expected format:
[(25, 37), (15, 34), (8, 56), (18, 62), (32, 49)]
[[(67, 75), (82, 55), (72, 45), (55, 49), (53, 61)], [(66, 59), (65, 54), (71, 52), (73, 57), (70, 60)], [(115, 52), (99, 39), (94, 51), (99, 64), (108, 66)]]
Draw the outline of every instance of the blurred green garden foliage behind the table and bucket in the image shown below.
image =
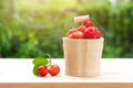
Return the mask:
[(0, 0), (0, 57), (63, 57), (63, 29), (83, 14), (106, 31), (104, 58), (133, 57), (133, 0)]

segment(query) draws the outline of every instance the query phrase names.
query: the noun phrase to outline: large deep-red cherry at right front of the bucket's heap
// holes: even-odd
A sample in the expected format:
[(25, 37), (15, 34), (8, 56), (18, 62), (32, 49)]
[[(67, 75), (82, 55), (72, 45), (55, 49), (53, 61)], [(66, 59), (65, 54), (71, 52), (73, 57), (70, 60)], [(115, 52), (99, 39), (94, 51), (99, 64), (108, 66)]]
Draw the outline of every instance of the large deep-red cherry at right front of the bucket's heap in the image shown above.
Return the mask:
[(98, 30), (93, 26), (88, 28), (84, 31), (84, 37), (85, 38), (96, 38), (98, 37)]

